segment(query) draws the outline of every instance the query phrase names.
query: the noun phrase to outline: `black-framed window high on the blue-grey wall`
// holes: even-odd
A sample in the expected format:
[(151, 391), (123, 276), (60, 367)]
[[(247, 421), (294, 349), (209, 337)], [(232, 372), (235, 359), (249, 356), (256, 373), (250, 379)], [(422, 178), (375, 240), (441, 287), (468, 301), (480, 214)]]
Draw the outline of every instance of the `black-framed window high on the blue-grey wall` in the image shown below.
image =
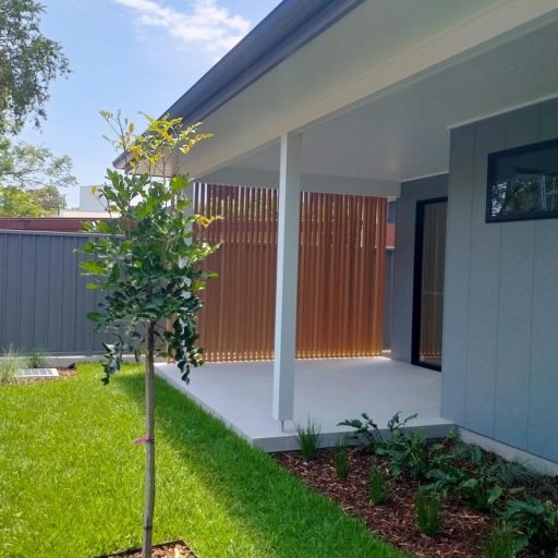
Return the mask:
[(486, 221), (558, 217), (558, 140), (488, 155)]

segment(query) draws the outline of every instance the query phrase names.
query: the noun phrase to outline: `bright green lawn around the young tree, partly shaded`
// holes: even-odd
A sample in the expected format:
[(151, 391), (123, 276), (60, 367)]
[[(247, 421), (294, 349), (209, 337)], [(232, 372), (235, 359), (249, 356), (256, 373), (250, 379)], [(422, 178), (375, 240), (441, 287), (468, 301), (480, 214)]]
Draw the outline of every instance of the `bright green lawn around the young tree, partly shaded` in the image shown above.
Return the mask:
[[(69, 380), (0, 387), (0, 556), (86, 558), (141, 541), (143, 377), (108, 386), (98, 365)], [(162, 380), (157, 383), (155, 541), (198, 558), (395, 558)]]

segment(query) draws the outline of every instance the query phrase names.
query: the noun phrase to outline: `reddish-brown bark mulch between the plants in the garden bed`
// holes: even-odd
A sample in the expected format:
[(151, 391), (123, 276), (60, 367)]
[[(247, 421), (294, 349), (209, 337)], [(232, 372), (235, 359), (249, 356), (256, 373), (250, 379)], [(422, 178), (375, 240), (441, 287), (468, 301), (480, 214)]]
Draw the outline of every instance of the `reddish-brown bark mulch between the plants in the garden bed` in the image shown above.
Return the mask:
[[(411, 556), (420, 558), (480, 558), (490, 529), (490, 518), (462, 504), (444, 501), (445, 524), (434, 536), (422, 534), (416, 527), (415, 497), (417, 481), (402, 473), (390, 478), (390, 496), (381, 506), (374, 506), (368, 497), (372, 464), (379, 464), (389, 475), (388, 461), (378, 456), (350, 452), (350, 473), (340, 480), (331, 461), (331, 450), (320, 450), (314, 461), (304, 461), (300, 453), (276, 453), (274, 459), (314, 490), (324, 494), (352, 515), (361, 518), (368, 529)], [(522, 558), (541, 556), (523, 553)]]

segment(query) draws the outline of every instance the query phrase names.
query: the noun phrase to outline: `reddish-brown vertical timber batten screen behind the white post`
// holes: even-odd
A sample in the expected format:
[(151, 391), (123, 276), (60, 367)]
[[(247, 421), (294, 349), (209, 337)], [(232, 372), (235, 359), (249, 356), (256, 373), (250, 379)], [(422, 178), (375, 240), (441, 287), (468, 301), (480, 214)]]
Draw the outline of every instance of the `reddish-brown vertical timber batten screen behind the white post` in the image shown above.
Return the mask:
[[(198, 240), (222, 241), (204, 267), (199, 314), (207, 361), (274, 357), (278, 195), (272, 189), (195, 184), (194, 213), (221, 216)], [(303, 192), (296, 357), (381, 354), (385, 198)]]

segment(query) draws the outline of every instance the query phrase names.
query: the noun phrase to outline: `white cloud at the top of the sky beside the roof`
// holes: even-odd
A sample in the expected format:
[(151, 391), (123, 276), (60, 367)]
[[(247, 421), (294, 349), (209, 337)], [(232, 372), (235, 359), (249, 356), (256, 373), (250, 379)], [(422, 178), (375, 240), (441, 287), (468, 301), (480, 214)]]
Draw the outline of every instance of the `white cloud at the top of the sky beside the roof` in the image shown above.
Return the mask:
[(112, 0), (134, 13), (137, 25), (162, 27), (181, 45), (222, 53), (239, 43), (250, 29), (250, 21), (232, 15), (217, 0), (190, 0), (180, 11), (160, 0)]

